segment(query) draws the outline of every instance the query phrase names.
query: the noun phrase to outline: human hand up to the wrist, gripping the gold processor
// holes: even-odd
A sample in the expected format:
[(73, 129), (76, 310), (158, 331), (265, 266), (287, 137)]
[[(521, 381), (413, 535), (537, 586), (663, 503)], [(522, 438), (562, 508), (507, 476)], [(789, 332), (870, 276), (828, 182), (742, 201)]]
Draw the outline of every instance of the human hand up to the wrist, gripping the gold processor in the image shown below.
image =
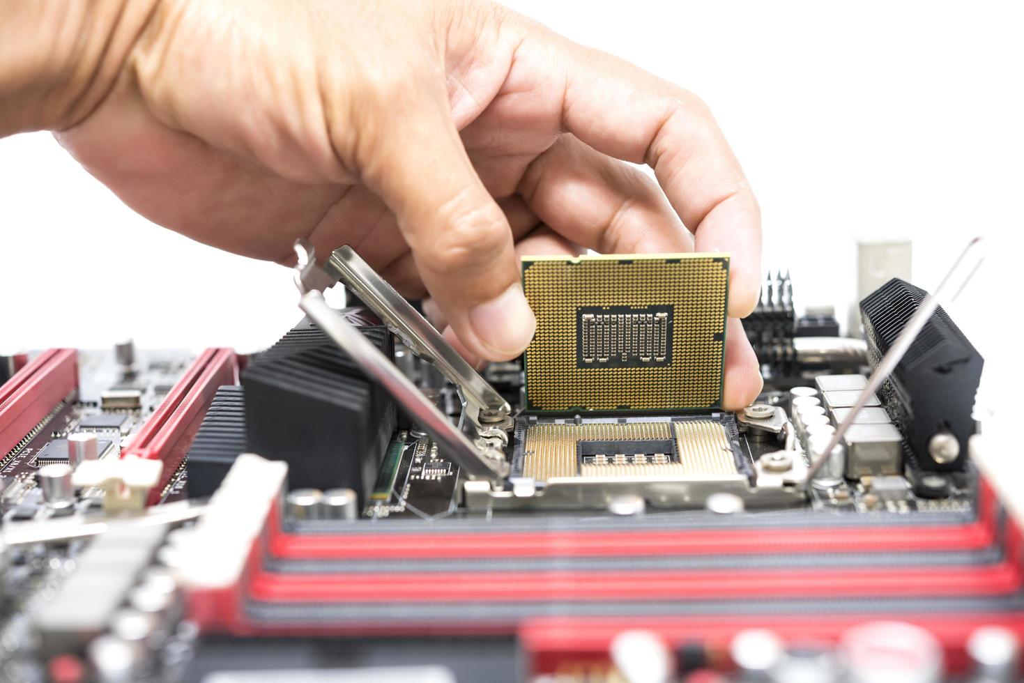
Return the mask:
[[(473, 359), (532, 335), (518, 254), (728, 251), (753, 309), (758, 206), (691, 93), (486, 2), (147, 2), (57, 137), (151, 220), (282, 262), (350, 244)], [(738, 408), (760, 376), (727, 343)]]

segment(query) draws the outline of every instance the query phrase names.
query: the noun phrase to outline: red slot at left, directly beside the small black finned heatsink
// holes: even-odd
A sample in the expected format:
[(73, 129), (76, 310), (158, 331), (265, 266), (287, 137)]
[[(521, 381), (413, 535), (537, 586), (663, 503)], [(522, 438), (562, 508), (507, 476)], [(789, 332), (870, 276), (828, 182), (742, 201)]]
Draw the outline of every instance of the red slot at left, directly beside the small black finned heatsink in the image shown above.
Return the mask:
[(238, 376), (239, 361), (234, 351), (206, 349), (167, 394), (131, 445), (122, 452), (122, 457), (137, 456), (164, 463), (160, 485), (151, 492), (147, 505), (160, 501), (163, 489), (184, 460), (217, 387), (237, 384)]

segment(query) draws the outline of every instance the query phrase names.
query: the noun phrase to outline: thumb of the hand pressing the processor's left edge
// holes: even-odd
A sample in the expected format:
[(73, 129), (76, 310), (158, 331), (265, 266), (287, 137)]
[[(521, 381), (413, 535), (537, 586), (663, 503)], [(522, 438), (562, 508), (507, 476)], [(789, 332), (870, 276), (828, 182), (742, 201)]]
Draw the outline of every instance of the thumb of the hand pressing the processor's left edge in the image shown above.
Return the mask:
[(394, 212), (423, 284), (465, 349), (507, 360), (526, 348), (537, 321), (505, 213), (466, 155), (447, 97), (438, 99), (394, 120), (365, 178)]

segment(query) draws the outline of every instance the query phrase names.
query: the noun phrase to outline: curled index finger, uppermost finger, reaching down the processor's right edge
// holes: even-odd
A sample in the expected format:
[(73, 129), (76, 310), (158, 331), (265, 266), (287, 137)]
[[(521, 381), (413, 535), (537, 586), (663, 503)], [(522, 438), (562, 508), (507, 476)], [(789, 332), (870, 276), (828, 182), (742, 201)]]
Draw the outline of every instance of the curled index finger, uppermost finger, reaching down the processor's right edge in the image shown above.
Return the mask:
[[(590, 146), (647, 164), (697, 251), (728, 251), (729, 315), (754, 310), (761, 280), (761, 211), (725, 136), (693, 93), (560, 36), (524, 44), (561, 86), (561, 125)], [(551, 69), (551, 65), (560, 65)]]

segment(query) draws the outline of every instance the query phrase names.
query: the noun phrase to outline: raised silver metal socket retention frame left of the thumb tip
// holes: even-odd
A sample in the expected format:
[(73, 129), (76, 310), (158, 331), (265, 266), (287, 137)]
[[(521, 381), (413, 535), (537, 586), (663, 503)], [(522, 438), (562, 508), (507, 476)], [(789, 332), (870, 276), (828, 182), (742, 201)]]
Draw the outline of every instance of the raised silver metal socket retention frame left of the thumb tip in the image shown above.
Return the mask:
[[(342, 254), (336, 259), (335, 256), (338, 256), (339, 252)], [(417, 354), (434, 361), (444, 376), (459, 387), (464, 400), (463, 419), (459, 427), (453, 425), (393, 362), (328, 305), (323, 293), (317, 289), (321, 271), (316, 268), (312, 247), (304, 240), (300, 240), (295, 244), (295, 253), (298, 256), (295, 285), (302, 295), (299, 308), (349, 354), (368, 377), (391, 394), (424, 431), (437, 441), (442, 453), (459, 464), (466, 476), (470, 479), (487, 479), (492, 482), (501, 481), (508, 476), (509, 466), (503, 451), (508, 435), (490, 420), (482, 425), (479, 421), (481, 417), (479, 412), (486, 410), (495, 411), (498, 423), (504, 423), (506, 420), (511, 422), (510, 409), (501, 394), (476, 374), (437, 331), (356, 256), (354, 251), (349, 247), (336, 250), (329, 264), (336, 261), (347, 264), (343, 270), (345, 274), (342, 276), (345, 284), (385, 321), (388, 328), (397, 334), (402, 342)], [(338, 271), (338, 266), (329, 267), (328, 271), (334, 274)], [(353, 283), (358, 283), (358, 286)], [(393, 298), (400, 301), (401, 305), (396, 305)], [(467, 388), (462, 384), (464, 376), (470, 381), (475, 378), (475, 383)], [(467, 408), (474, 410), (467, 411)], [(467, 415), (473, 412), (476, 414)], [(487, 413), (483, 417), (490, 415)], [(470, 424), (467, 424), (467, 418)]]

